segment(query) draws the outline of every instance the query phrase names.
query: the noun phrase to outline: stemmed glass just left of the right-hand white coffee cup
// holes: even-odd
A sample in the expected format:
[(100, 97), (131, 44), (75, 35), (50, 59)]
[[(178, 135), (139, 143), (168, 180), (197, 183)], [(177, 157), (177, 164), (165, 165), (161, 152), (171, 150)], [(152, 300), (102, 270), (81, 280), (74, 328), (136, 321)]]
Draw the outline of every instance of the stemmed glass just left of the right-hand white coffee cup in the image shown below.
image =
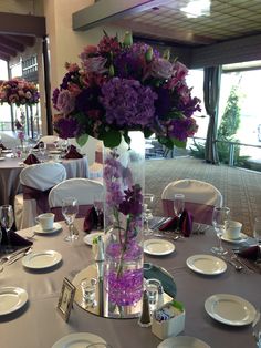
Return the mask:
[(226, 223), (229, 221), (229, 214), (230, 214), (230, 208), (228, 208), (227, 206), (213, 208), (212, 225), (213, 225), (213, 228), (215, 228), (217, 236), (218, 236), (218, 239), (219, 239), (219, 245), (213, 246), (211, 248), (211, 252), (213, 254), (225, 255), (228, 253), (228, 250), (226, 250), (222, 247), (221, 237), (225, 233)]

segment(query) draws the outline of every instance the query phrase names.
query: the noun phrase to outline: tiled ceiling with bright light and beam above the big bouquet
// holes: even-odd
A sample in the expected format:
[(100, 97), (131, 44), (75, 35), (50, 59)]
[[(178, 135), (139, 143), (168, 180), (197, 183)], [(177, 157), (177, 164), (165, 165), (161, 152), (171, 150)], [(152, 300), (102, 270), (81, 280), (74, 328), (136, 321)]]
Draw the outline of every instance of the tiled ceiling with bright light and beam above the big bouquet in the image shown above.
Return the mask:
[(127, 28), (147, 39), (206, 47), (261, 34), (261, 1), (96, 0), (73, 14), (74, 30), (104, 23)]

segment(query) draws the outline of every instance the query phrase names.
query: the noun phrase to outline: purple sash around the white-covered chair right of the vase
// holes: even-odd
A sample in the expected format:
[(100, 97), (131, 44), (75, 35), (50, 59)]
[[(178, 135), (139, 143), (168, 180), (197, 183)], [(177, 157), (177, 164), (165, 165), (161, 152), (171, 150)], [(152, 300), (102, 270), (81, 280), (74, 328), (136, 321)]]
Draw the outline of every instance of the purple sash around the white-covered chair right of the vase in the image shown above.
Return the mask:
[[(194, 215), (194, 221), (196, 223), (212, 225), (212, 205), (185, 202), (185, 208)], [(174, 216), (173, 201), (163, 199), (163, 211), (165, 216)]]

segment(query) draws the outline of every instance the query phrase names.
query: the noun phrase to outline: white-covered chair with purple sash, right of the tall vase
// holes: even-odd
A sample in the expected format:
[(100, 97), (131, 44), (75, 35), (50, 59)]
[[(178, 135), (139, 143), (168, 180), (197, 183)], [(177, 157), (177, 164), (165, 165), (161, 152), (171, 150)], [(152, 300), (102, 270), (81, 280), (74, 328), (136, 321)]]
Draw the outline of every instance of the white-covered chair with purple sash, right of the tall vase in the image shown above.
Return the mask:
[(185, 195), (185, 208), (194, 215), (194, 222), (211, 225), (215, 206), (222, 206), (222, 194), (213, 185), (191, 178), (169, 183), (163, 191), (161, 202), (165, 216), (174, 215), (174, 195)]

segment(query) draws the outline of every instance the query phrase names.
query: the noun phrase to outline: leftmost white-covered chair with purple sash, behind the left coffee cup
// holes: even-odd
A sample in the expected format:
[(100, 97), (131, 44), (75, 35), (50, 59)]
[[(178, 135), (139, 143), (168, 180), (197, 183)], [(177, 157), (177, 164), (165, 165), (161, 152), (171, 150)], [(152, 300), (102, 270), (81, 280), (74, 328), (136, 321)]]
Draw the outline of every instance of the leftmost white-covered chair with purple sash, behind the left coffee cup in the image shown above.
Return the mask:
[(66, 170), (61, 163), (32, 164), (21, 171), (22, 193), (14, 197), (18, 229), (34, 226), (35, 217), (49, 212), (49, 192), (65, 178)]

